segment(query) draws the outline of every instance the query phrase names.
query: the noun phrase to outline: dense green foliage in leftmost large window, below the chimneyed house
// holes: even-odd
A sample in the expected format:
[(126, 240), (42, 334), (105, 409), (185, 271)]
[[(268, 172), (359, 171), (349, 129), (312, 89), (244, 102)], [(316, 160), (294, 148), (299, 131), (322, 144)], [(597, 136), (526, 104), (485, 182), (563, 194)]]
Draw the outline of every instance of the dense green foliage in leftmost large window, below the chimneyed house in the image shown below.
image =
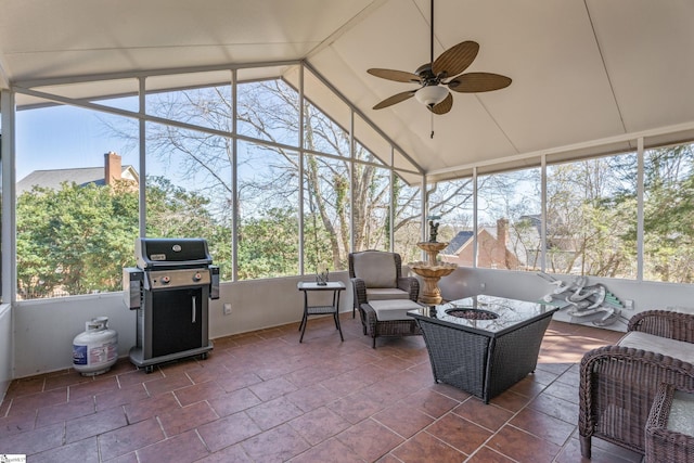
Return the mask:
[(138, 194), (63, 183), (34, 188), (17, 198), (17, 286), (22, 298), (120, 288), (134, 263)]

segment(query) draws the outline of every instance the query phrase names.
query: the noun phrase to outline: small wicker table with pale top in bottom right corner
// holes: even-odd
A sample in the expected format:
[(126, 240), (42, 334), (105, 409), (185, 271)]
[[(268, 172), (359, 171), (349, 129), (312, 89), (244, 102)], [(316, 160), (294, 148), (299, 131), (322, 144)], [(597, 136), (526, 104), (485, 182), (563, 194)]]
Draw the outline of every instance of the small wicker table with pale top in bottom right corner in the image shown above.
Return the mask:
[(694, 390), (661, 384), (645, 434), (646, 463), (694, 461)]

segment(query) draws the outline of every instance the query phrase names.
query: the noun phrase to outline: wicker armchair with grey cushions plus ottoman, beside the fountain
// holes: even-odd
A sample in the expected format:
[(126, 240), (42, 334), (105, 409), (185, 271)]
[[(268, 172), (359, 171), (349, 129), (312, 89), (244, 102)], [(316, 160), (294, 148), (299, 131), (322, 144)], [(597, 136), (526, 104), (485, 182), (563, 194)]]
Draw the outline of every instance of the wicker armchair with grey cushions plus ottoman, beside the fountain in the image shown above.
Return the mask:
[(420, 282), (402, 276), (399, 254), (363, 250), (349, 254), (349, 278), (354, 290), (355, 311), (359, 310), (364, 335), (376, 347), (378, 336), (407, 336), (421, 334), (408, 310), (420, 308)]

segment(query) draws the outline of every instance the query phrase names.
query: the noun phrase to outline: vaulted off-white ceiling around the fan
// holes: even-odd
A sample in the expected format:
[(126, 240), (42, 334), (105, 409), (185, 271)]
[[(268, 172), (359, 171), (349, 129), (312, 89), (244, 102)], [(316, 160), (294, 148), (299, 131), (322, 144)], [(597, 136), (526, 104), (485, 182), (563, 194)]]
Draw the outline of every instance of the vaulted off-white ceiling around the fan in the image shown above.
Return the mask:
[(428, 62), (429, 0), (3, 0), (0, 87), (305, 60), (433, 173), (694, 128), (691, 0), (436, 0), (434, 20), (435, 56), (474, 40), (467, 70), (512, 85), (454, 93), (441, 116), (415, 99), (372, 110), (416, 88), (367, 69)]

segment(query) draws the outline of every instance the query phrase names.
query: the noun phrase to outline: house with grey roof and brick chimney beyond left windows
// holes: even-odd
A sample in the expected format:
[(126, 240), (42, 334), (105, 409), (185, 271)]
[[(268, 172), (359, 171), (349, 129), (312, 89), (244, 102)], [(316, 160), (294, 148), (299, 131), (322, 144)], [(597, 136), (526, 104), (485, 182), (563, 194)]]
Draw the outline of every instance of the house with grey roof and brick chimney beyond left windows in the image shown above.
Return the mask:
[(137, 189), (140, 176), (130, 165), (123, 165), (121, 156), (113, 151), (104, 153), (103, 167), (80, 167), (66, 169), (35, 170), (17, 182), (17, 195), (31, 191), (34, 187), (60, 190), (61, 184), (75, 182), (80, 187), (88, 184), (112, 185), (119, 180), (132, 182)]

